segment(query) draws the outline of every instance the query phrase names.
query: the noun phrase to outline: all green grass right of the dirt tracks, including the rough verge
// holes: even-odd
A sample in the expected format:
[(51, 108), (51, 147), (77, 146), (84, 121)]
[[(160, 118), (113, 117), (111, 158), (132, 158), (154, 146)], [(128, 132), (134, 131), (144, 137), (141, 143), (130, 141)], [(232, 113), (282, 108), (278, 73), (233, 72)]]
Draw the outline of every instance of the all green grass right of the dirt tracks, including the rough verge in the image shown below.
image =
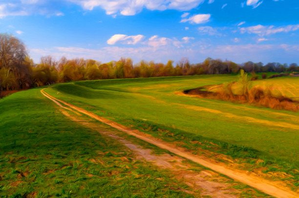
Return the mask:
[[(195, 153), (201, 148), (238, 158), (238, 168), (270, 173), (266, 175), (270, 179), (289, 179), (291, 188), (298, 189), (298, 112), (178, 94), (184, 89), (236, 78), (211, 75), (81, 81), (58, 84), (46, 92), (157, 138), (176, 141)], [(275, 80), (281, 79), (255, 83)], [(294, 80), (284, 78), (283, 82), (296, 83)], [(276, 171), (287, 176), (275, 177), (272, 173)]]

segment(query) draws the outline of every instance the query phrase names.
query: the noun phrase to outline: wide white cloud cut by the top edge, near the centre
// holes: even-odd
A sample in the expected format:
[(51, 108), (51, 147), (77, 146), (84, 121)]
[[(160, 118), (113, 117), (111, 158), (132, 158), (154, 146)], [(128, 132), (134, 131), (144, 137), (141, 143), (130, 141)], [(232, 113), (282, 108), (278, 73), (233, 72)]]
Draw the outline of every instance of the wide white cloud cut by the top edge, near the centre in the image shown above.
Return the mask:
[(149, 10), (174, 9), (187, 11), (196, 8), (205, 0), (68, 0), (79, 4), (85, 10), (101, 7), (107, 15), (120, 13), (121, 15), (135, 15), (143, 8)]

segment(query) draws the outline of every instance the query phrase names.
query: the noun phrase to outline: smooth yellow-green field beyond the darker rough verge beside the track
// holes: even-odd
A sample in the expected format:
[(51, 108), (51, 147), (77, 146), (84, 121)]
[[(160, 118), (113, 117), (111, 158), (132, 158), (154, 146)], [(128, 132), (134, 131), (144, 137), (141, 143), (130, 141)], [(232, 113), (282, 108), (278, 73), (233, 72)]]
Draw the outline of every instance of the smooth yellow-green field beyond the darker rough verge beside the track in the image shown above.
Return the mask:
[[(260, 155), (298, 166), (298, 112), (177, 94), (184, 89), (230, 82), (235, 78), (234, 75), (205, 75), (80, 81), (57, 84), (46, 92), (128, 126), (156, 125), (179, 130), (186, 136), (193, 134), (192, 137), (250, 147)], [(292, 86), (298, 85), (297, 82), (295, 78), (254, 81), (261, 85), (279, 84), (283, 93), (294, 91), (295, 96), (298, 90)]]

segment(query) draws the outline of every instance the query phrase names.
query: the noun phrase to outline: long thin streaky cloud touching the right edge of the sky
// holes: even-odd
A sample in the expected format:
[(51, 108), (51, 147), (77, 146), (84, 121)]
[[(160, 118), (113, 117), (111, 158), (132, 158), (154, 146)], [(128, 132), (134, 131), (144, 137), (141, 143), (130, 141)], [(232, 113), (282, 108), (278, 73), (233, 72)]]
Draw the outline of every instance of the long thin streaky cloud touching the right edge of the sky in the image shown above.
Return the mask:
[(296, 31), (299, 29), (299, 24), (297, 25), (285, 25), (280, 27), (275, 27), (274, 25), (270, 26), (263, 26), (263, 25), (256, 25), (256, 26), (250, 26), (250, 27), (242, 27), (240, 28), (240, 32), (242, 34), (248, 33), (248, 34), (257, 34), (259, 36), (265, 36), (265, 35), (271, 35), (276, 33), (288, 33), (292, 31)]

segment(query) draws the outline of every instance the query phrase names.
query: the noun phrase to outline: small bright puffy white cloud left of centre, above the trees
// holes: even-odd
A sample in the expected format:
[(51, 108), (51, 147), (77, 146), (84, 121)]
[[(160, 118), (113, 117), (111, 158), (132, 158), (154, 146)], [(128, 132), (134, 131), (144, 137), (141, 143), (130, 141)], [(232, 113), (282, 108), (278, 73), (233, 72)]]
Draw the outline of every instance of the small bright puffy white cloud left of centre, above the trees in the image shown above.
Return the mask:
[(121, 42), (123, 44), (137, 44), (145, 38), (143, 35), (136, 36), (127, 36), (123, 34), (113, 35), (109, 40), (107, 40), (107, 44), (114, 45), (117, 42)]

